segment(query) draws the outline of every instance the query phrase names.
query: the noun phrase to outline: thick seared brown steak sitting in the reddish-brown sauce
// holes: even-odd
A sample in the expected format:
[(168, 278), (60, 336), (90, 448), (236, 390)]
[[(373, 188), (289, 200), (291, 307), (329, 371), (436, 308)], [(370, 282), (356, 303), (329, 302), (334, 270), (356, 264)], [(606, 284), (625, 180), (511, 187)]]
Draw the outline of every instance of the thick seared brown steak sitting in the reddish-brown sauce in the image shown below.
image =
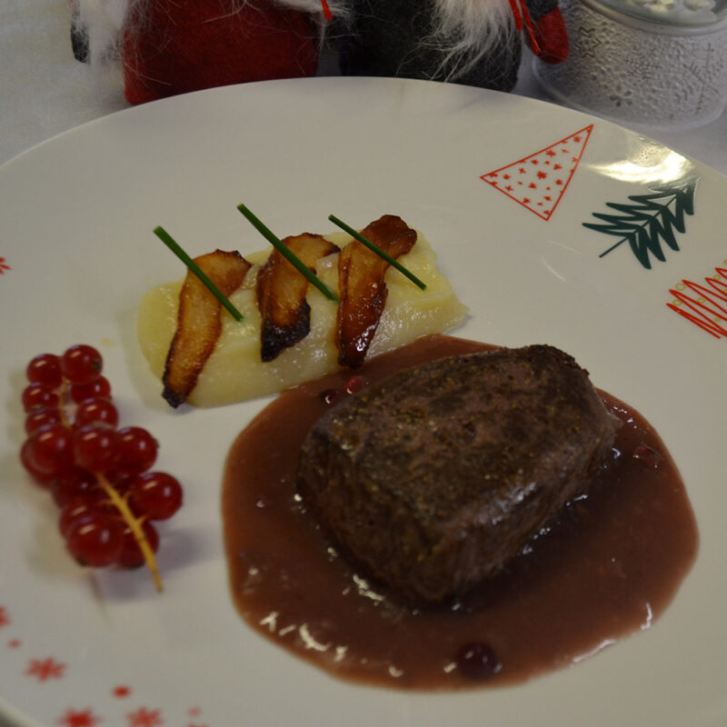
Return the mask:
[(326, 413), (298, 486), (356, 567), (406, 602), (442, 602), (584, 493), (617, 428), (588, 373), (552, 346), (453, 356)]

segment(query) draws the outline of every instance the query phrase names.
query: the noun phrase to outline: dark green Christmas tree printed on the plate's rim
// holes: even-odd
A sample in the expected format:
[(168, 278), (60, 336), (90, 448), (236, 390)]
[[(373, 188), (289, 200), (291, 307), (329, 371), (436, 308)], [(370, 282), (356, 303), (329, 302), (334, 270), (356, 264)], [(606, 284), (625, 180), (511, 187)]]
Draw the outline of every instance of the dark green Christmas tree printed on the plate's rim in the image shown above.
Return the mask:
[(651, 269), (652, 257), (663, 263), (665, 249), (679, 250), (676, 234), (686, 230), (686, 215), (694, 214), (698, 181), (696, 174), (690, 174), (670, 182), (649, 184), (651, 194), (632, 194), (629, 196), (631, 204), (607, 202), (606, 206), (617, 214), (594, 212), (593, 216), (603, 224), (583, 223), (584, 227), (619, 238), (599, 257), (628, 243), (645, 268)]

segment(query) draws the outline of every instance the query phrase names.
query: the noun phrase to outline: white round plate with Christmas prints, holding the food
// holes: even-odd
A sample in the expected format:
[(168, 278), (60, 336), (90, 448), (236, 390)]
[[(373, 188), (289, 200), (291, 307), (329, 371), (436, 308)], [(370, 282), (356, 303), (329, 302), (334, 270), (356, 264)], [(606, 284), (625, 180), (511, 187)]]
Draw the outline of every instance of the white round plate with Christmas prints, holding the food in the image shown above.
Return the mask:
[[(523, 160), (510, 170), (517, 180), (552, 182), (533, 173), (533, 159), (553, 158), (547, 149), (564, 154), (554, 189), (565, 190), (547, 219), (481, 178)], [(570, 177), (569, 157), (580, 159)], [(519, 177), (520, 167), (530, 171)], [(628, 244), (600, 257), (617, 239), (583, 226), (598, 222), (593, 213), (684, 174), (699, 182), (693, 214), (675, 233), (679, 251), (662, 245), (665, 260), (651, 256), (651, 269)], [(72, 727), (725, 724), (727, 343), (667, 306), (683, 280), (727, 281), (716, 272), (727, 267), (725, 199), (720, 174), (618, 126), (512, 95), (400, 80), (180, 96), (0, 167), (0, 718)], [(221, 546), (221, 468), (267, 400), (169, 411), (137, 350), (134, 309), (146, 289), (183, 274), (152, 234), (157, 224), (192, 254), (260, 249), (235, 209), (241, 202), (279, 234), (331, 231), (331, 213), (360, 225), (402, 215), (425, 232), (471, 308), (458, 334), (558, 345), (656, 426), (682, 470), (702, 544), (651, 629), (522, 686), (421, 694), (339, 682), (237, 617)], [(149, 427), (162, 445), (158, 466), (185, 485), (184, 508), (164, 528), (163, 595), (144, 570), (94, 576), (76, 567), (55, 507), (17, 460), (26, 362), (79, 342), (102, 351), (122, 421)]]

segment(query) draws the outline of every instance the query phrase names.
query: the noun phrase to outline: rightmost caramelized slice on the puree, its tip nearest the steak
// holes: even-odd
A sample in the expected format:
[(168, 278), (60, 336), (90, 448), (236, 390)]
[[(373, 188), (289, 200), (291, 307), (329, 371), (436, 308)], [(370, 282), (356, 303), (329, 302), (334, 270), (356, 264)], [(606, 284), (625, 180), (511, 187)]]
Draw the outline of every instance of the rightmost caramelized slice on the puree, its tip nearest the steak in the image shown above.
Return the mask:
[[(408, 253), (416, 232), (401, 217), (384, 214), (361, 234), (395, 260)], [(386, 304), (383, 275), (389, 264), (354, 240), (338, 257), (339, 304), (335, 328), (338, 363), (356, 368), (364, 363)]]

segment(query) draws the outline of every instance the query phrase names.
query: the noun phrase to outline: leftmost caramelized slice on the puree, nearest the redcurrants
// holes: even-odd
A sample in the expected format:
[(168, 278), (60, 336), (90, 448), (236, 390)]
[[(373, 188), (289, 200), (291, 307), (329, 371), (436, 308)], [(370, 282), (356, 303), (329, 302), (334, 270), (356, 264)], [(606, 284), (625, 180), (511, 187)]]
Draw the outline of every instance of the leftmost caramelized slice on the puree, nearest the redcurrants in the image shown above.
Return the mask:
[[(202, 272), (225, 295), (243, 284), (251, 264), (236, 251), (215, 250), (194, 258)], [(222, 333), (222, 304), (191, 271), (179, 295), (176, 331), (164, 365), (162, 396), (176, 408), (184, 403)]]

